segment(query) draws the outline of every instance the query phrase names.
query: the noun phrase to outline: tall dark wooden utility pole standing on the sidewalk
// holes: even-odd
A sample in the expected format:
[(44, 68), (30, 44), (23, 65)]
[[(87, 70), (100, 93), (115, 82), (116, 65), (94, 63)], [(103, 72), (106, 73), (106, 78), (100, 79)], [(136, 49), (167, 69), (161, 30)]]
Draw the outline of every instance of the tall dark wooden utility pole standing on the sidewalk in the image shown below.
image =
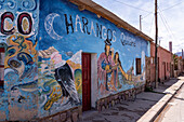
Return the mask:
[(158, 63), (157, 63), (157, 40), (158, 40), (158, 23), (157, 23), (157, 0), (155, 0), (155, 89), (158, 87)]

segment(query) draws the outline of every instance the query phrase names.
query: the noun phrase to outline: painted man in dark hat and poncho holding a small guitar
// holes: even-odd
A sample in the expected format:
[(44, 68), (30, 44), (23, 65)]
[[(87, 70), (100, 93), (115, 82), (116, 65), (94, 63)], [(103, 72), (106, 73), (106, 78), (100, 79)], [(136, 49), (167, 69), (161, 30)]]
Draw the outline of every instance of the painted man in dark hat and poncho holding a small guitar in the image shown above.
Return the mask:
[(98, 89), (101, 94), (106, 91), (117, 91), (115, 87), (115, 66), (114, 59), (110, 54), (109, 40), (105, 40), (105, 53), (101, 53), (97, 59), (97, 79), (98, 79)]

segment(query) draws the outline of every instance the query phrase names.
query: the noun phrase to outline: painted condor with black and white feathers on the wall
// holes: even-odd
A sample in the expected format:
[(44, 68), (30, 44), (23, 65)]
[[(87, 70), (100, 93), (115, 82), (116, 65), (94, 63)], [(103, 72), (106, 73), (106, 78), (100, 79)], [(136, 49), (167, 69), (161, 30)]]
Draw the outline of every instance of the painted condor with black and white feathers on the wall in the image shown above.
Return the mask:
[(62, 55), (58, 52), (54, 52), (51, 55), (51, 59), (53, 59), (55, 64), (54, 77), (62, 87), (63, 96), (69, 96), (69, 101), (71, 104), (78, 105), (80, 101), (69, 65), (62, 59)]

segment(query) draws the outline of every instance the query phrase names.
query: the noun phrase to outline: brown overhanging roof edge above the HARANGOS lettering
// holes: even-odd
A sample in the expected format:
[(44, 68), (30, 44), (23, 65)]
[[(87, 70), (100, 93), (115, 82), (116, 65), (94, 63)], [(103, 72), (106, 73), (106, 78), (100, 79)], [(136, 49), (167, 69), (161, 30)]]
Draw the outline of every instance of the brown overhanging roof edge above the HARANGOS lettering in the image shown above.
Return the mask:
[(142, 31), (137, 30), (127, 22), (122, 21), (120, 17), (115, 15), (114, 13), (109, 12), (108, 10), (104, 9), (103, 6), (96, 4), (92, 0), (69, 0), (71, 3), (78, 5), (80, 11), (88, 10), (90, 12), (95, 13), (97, 16), (102, 16), (109, 22), (114, 23), (119, 28), (124, 28), (126, 30), (139, 36), (146, 41), (154, 41), (150, 37), (143, 33)]

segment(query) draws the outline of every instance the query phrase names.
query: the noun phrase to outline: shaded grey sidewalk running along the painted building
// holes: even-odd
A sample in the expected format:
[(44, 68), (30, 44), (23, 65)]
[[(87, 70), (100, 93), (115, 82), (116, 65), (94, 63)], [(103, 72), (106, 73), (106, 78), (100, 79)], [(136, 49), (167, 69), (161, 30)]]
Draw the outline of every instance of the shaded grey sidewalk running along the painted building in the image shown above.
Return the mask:
[[(184, 79), (184, 77), (182, 78)], [(86, 111), (82, 113), (81, 122), (135, 122), (139, 119), (141, 119), (139, 120), (140, 122), (143, 122), (143, 120), (145, 122), (145, 119), (152, 120), (156, 114), (156, 111), (153, 112), (153, 110), (149, 111), (149, 109), (155, 109), (153, 106), (157, 105), (158, 101), (165, 98), (165, 96), (168, 96), (168, 94), (172, 96), (174, 91), (176, 91), (183, 83), (183, 81), (180, 83), (178, 83), (178, 81), (181, 80), (170, 79), (169, 81), (166, 81), (165, 84), (159, 84), (158, 89), (154, 90), (155, 92), (143, 92), (136, 95), (135, 101), (123, 100), (122, 103), (101, 112), (95, 110)], [(166, 104), (163, 104), (163, 101), (162, 105)], [(156, 107), (160, 110), (159, 107), (161, 106), (159, 105)], [(147, 113), (146, 111), (149, 112)]]

